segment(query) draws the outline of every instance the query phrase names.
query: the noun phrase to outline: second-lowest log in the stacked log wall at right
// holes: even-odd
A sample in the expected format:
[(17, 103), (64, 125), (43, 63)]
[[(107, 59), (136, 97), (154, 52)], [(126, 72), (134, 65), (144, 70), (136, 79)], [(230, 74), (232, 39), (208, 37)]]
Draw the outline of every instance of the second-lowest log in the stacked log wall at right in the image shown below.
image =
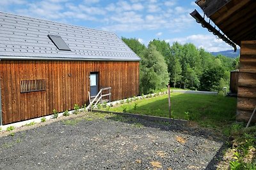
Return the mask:
[(256, 106), (256, 98), (237, 98), (237, 110), (253, 111)]

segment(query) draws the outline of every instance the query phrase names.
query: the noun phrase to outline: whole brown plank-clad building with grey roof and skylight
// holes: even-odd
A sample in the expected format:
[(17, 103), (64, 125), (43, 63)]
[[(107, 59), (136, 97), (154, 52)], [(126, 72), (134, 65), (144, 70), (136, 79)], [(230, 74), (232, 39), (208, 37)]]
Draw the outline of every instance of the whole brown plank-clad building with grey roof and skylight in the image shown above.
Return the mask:
[(137, 96), (140, 58), (116, 34), (0, 13), (0, 124)]

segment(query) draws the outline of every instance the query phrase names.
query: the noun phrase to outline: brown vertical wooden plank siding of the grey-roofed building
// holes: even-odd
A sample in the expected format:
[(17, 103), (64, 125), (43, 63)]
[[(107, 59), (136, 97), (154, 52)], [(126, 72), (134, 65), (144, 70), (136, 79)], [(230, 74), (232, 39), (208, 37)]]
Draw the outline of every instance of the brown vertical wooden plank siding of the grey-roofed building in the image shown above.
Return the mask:
[[(90, 72), (99, 87), (111, 87), (111, 100), (137, 96), (139, 62), (0, 60), (3, 124), (73, 110), (88, 103)], [(20, 81), (45, 80), (45, 89), (20, 93)]]

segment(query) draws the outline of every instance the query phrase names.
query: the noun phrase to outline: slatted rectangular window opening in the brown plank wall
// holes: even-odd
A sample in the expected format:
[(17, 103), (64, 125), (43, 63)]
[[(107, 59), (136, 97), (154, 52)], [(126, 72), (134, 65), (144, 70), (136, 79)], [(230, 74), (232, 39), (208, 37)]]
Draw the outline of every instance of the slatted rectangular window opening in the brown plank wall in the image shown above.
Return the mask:
[(45, 90), (45, 80), (22, 80), (20, 82), (20, 92), (36, 92)]

